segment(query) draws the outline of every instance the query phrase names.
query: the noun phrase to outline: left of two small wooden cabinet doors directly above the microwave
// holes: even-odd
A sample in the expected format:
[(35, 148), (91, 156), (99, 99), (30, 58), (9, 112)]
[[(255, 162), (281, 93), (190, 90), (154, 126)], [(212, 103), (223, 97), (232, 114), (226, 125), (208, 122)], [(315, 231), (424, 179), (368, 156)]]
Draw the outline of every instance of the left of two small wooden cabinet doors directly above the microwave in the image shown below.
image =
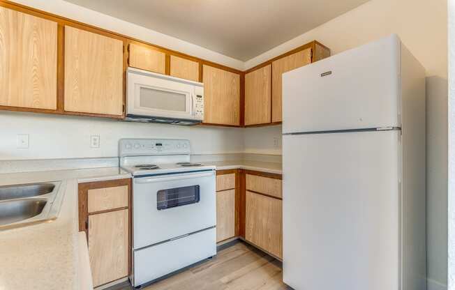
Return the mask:
[(133, 68), (162, 73), (166, 70), (166, 54), (145, 45), (130, 43), (128, 63)]

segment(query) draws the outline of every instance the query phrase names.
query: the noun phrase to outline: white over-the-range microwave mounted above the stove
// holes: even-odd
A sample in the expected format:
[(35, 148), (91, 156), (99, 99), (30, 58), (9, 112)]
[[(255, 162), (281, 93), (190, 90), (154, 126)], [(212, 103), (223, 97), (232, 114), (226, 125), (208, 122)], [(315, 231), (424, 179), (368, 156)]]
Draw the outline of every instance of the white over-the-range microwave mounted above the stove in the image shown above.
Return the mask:
[(194, 125), (204, 119), (204, 84), (126, 70), (126, 121)]

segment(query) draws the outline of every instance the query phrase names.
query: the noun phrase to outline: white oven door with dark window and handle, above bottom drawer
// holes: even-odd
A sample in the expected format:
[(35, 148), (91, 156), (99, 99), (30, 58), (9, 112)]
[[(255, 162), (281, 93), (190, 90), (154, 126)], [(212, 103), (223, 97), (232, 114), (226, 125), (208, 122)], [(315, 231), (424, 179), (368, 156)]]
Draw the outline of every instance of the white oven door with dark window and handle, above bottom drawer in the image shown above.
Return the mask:
[(134, 178), (135, 250), (215, 225), (215, 171)]

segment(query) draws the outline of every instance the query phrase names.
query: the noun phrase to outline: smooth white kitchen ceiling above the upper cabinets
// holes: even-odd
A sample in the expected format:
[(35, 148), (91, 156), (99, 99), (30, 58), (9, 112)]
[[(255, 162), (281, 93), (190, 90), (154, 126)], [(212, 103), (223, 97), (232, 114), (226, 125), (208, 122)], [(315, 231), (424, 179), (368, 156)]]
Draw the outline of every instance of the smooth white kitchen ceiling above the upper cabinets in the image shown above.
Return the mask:
[(247, 61), (368, 0), (66, 0)]

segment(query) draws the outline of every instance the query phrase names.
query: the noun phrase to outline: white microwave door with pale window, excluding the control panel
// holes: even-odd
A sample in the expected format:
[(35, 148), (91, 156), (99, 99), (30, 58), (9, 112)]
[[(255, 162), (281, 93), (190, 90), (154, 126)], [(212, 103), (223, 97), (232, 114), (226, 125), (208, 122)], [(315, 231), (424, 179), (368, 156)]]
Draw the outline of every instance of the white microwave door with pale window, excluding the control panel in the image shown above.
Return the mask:
[(127, 114), (195, 119), (194, 84), (132, 68), (127, 74)]

